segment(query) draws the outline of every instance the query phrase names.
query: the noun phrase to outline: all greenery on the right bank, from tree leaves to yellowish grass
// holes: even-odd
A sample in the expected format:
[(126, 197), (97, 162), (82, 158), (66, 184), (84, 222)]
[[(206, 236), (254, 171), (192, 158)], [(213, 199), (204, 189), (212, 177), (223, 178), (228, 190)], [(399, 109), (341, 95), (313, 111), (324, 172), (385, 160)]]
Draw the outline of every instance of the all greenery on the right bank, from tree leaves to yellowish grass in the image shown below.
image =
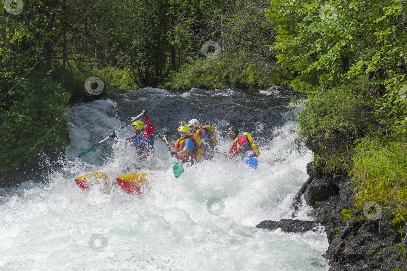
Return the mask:
[[(270, 0), (270, 50), (308, 96), (299, 144), (326, 171), (351, 171), (356, 204), (405, 215), (407, 6), (398, 0)], [(366, 81), (366, 74), (370, 81)]]

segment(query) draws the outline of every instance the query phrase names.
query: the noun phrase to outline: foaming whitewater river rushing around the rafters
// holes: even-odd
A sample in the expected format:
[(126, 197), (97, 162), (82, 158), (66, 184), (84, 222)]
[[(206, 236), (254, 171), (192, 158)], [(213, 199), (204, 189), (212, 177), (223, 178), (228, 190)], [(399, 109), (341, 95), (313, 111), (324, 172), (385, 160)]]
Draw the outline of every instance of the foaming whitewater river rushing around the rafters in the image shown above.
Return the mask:
[[(67, 109), (70, 146), (63, 169), (43, 183), (28, 177), (17, 188), (0, 188), (0, 269), (327, 270), (325, 233), (255, 227), (291, 218), (291, 199), (308, 178), (312, 154), (296, 150), (290, 95), (278, 87), (110, 90), (104, 99)], [(144, 196), (118, 186), (81, 190), (75, 177), (98, 170), (115, 180), (137, 162), (131, 147), (113, 139), (77, 156), (142, 109), (149, 110), (156, 142), (155, 158), (143, 169), (149, 181)], [(175, 141), (180, 121), (191, 118), (215, 127), (224, 152), (231, 144), (225, 123), (248, 131), (261, 152), (258, 169), (214, 158), (176, 179), (160, 139), (166, 134)], [(131, 127), (119, 135), (130, 137)], [(312, 220), (309, 211), (303, 204), (297, 219)]]

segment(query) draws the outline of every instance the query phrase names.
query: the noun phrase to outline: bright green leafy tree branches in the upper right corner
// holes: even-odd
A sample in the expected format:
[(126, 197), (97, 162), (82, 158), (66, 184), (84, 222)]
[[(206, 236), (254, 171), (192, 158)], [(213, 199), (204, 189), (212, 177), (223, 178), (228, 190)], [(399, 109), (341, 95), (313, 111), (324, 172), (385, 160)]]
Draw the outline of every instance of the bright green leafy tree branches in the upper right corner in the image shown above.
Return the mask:
[(398, 0), (340, 2), (271, 0), (267, 16), (278, 28), (278, 62), (299, 72), (300, 91), (332, 87), (382, 67), (406, 70), (407, 6)]

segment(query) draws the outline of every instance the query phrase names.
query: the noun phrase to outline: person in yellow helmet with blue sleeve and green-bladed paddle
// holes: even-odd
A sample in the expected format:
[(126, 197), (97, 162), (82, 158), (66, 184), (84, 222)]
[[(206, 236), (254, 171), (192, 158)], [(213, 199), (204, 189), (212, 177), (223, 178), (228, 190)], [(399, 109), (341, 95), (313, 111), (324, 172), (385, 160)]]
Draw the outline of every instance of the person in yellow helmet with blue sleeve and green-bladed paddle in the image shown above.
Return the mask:
[[(176, 143), (168, 141), (168, 145), (175, 149), (175, 152), (170, 152), (170, 154), (175, 155), (175, 157), (181, 160), (183, 163), (192, 162), (192, 164), (202, 157), (202, 150), (200, 149), (200, 138), (194, 134), (190, 133), (190, 128), (186, 124), (182, 124), (178, 128), (180, 139)], [(164, 135), (163, 140), (167, 138)]]

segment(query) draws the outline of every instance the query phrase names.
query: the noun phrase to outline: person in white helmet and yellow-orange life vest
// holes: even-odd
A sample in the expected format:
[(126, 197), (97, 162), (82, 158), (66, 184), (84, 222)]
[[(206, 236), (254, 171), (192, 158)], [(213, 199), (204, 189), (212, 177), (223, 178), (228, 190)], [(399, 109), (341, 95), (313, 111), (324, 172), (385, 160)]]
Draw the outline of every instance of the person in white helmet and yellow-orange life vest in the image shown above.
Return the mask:
[(211, 125), (202, 126), (196, 118), (188, 122), (191, 131), (198, 135), (202, 143), (200, 148), (202, 150), (203, 159), (211, 159), (214, 157), (214, 147), (216, 146), (215, 129)]

